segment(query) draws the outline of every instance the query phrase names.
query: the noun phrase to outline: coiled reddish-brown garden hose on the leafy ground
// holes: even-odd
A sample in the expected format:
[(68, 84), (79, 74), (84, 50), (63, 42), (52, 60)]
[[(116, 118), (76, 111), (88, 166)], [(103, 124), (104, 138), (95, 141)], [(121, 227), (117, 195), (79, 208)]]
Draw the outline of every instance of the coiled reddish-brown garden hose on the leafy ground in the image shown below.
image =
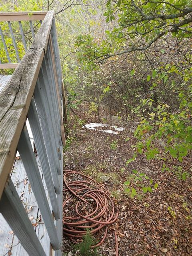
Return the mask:
[[(100, 246), (108, 232), (108, 225), (118, 218), (118, 211), (110, 197), (110, 192), (92, 178), (70, 170), (64, 170), (65, 200), (63, 202), (63, 234), (73, 242), (86, 235), (95, 234), (104, 229), (103, 238), (96, 245)], [(70, 207), (70, 204), (72, 206)], [(67, 206), (65, 208), (65, 206)], [(71, 209), (70, 216), (65, 216)], [(118, 256), (118, 240), (114, 230), (116, 256)]]

